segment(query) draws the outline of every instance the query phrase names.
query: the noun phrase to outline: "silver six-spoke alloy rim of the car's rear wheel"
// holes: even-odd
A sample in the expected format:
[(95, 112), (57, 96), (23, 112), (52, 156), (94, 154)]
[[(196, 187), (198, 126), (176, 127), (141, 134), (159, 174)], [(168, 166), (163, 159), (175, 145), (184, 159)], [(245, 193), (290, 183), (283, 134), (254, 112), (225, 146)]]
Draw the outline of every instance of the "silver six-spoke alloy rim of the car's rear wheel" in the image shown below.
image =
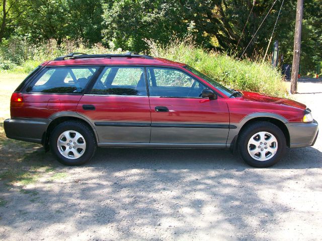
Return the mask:
[(86, 141), (81, 133), (76, 131), (65, 131), (60, 134), (57, 140), (59, 153), (68, 159), (77, 159), (84, 155)]

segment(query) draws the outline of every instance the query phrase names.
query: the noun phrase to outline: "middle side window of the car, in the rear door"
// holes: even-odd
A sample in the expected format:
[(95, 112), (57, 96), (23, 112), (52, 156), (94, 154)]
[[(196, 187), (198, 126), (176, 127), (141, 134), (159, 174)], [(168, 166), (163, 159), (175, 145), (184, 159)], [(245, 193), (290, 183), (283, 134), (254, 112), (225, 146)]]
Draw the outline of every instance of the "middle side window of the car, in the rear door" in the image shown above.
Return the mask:
[(144, 69), (142, 67), (105, 67), (91, 94), (145, 96), (147, 94)]

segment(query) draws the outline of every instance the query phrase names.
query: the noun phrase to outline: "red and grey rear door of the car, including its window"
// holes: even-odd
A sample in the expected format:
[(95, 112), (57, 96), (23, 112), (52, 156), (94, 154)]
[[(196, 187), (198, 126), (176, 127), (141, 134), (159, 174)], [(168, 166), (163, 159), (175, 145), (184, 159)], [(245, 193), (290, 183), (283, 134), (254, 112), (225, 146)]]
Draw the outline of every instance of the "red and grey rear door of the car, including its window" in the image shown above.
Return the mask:
[(100, 143), (149, 143), (150, 105), (144, 67), (106, 66), (77, 106)]

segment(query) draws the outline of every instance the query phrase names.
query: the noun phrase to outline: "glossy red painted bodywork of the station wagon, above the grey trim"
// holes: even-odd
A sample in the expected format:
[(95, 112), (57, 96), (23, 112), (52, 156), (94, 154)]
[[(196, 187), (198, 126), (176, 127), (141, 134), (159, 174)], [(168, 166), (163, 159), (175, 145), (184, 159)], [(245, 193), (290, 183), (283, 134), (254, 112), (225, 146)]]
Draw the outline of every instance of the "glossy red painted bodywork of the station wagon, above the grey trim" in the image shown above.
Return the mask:
[[(177, 67), (193, 75), (204, 85), (213, 88), (203, 79), (183, 68), (185, 64), (154, 58), (89, 58), (46, 61), (42, 66), (59, 65), (157, 65)], [(205, 122), (239, 123), (254, 112), (270, 112), (285, 117), (289, 122), (301, 122), (304, 104), (255, 92), (243, 92), (242, 97), (222, 95), (216, 100), (200, 98), (148, 98), (127, 96), (91, 96), (69, 94), (23, 94), (23, 105), (11, 107), (12, 117), (47, 118), (58, 111), (77, 111), (96, 121), (133, 122)], [(81, 99), (82, 98), (82, 99)], [(81, 100), (81, 101), (79, 101)], [(78, 104), (79, 102), (79, 104)], [(78, 105), (77, 105), (78, 104)], [(93, 104), (96, 110), (84, 110), (83, 104)], [(151, 105), (151, 110), (150, 110)], [(19, 105), (20, 106), (20, 105)], [(166, 106), (169, 112), (156, 112), (155, 106)], [(229, 110), (228, 110), (229, 109)], [(229, 116), (230, 114), (230, 116)]]

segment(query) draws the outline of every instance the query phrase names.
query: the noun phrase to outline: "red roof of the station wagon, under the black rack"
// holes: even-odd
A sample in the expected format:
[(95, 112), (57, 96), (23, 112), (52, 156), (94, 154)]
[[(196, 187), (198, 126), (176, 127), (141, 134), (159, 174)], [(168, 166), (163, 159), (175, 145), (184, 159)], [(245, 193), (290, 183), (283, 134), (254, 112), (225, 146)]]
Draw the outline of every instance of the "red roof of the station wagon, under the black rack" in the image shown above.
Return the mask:
[(160, 66), (185, 66), (186, 64), (174, 62), (163, 58), (69, 58), (65, 60), (49, 60), (40, 66), (65, 66), (65, 65), (160, 65)]

